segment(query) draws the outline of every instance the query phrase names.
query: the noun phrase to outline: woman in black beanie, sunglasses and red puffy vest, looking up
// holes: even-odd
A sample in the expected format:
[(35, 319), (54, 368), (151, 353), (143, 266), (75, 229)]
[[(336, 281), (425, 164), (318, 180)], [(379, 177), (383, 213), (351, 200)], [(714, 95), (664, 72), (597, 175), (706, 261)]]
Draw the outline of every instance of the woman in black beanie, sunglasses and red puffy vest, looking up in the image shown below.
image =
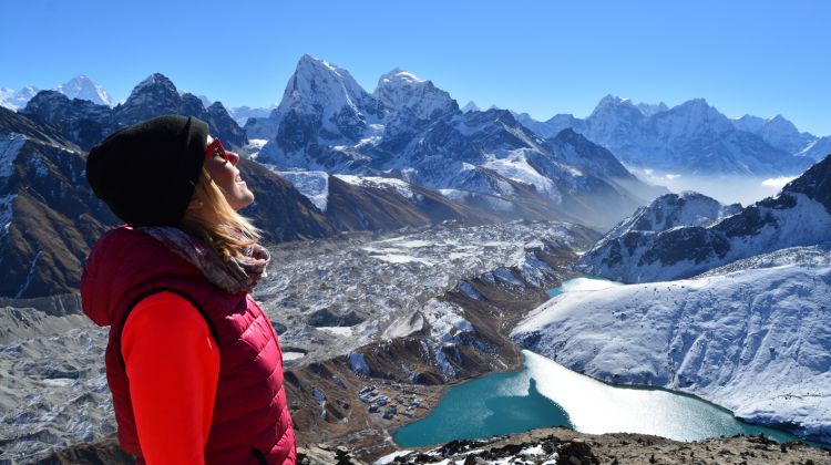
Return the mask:
[(127, 224), (93, 247), (81, 297), (111, 327), (119, 441), (138, 463), (295, 463), (277, 333), (248, 296), (269, 257), (237, 214), (254, 202), (238, 161), (184, 116), (121, 130), (86, 161)]

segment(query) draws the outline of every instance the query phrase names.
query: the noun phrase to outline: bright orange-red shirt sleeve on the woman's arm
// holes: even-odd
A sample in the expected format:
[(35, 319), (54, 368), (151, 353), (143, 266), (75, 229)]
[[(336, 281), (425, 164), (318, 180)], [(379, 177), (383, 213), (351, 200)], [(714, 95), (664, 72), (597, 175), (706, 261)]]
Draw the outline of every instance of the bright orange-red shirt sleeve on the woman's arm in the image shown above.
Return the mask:
[(144, 459), (204, 464), (219, 378), (205, 319), (173, 292), (152, 294), (124, 323), (121, 353)]

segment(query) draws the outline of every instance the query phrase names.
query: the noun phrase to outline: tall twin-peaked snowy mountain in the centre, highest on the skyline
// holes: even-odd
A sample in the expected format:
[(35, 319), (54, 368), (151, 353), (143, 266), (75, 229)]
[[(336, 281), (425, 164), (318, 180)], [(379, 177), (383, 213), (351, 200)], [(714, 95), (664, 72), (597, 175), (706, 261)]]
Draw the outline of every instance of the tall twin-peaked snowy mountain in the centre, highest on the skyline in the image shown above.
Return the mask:
[[(279, 106), (246, 131), (268, 138), (257, 159), (281, 170), (399, 177), (456, 202), (484, 196), (507, 208), (530, 189), (533, 203), (550, 204), (543, 210), (604, 227), (653, 194), (607, 152), (599, 164), (583, 163), (596, 157), (581, 155), (594, 149), (585, 140), (548, 144), (507, 111), (463, 113), (447, 92), (400, 69), (369, 94), (346, 70), (304, 55)], [(557, 152), (565, 146), (571, 152)]]

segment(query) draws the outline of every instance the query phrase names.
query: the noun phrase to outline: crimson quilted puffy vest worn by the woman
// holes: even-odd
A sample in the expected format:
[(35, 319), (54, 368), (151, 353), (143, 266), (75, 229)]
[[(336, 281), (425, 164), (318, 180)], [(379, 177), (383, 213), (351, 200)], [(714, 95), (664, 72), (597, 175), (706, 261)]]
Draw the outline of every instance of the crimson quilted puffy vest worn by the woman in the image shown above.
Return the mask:
[(283, 354), (268, 317), (248, 294), (227, 293), (164, 245), (129, 227), (114, 229), (95, 244), (81, 280), (84, 313), (99, 326), (111, 326), (106, 378), (121, 447), (141, 459), (121, 332), (133, 307), (160, 291), (189, 300), (219, 348), (205, 463), (294, 464), (295, 433), (283, 385)]

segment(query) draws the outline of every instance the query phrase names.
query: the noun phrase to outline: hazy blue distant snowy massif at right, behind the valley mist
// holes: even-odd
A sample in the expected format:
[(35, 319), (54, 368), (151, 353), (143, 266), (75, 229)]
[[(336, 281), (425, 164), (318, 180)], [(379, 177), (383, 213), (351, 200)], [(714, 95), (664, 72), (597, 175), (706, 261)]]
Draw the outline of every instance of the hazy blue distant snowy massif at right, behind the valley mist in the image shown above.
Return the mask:
[[(704, 99), (667, 108), (660, 104), (635, 105), (627, 99), (607, 95), (585, 120), (556, 115), (544, 123), (530, 117), (522, 121), (547, 137), (571, 127), (609, 148), (627, 166), (640, 169), (781, 176), (808, 167), (804, 157), (796, 157), (793, 152), (774, 146), (760, 135), (737, 128), (733, 121)], [(777, 121), (771, 128), (781, 124)], [(770, 137), (779, 143), (779, 138)]]

